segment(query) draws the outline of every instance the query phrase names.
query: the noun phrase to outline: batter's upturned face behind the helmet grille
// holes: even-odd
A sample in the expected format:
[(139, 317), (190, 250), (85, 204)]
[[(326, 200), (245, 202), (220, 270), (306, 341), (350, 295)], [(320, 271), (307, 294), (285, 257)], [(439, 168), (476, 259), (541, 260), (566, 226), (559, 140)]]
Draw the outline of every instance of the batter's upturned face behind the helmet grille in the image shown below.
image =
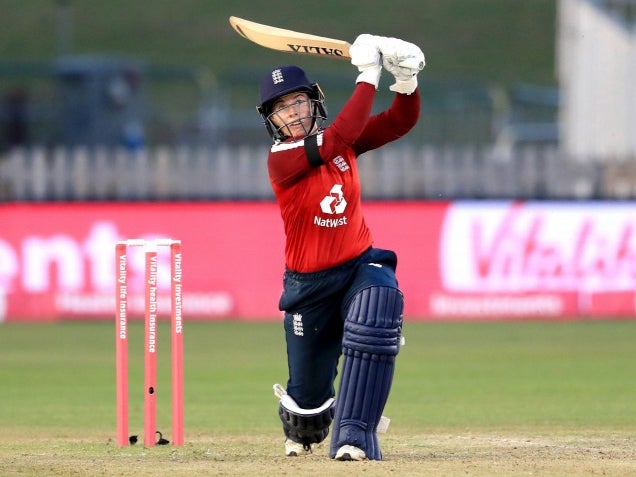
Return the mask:
[(271, 120), (281, 132), (295, 140), (311, 132), (313, 123), (309, 95), (295, 92), (281, 96), (272, 107)]

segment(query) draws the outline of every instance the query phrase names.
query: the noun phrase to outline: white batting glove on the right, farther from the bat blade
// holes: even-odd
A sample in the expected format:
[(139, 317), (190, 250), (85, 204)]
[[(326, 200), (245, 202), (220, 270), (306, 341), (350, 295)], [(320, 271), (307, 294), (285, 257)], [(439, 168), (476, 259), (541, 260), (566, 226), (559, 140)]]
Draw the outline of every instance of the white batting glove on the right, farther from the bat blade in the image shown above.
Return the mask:
[(424, 68), (424, 53), (417, 45), (398, 38), (381, 38), (382, 66), (395, 77), (391, 91), (412, 94), (417, 88), (417, 74)]

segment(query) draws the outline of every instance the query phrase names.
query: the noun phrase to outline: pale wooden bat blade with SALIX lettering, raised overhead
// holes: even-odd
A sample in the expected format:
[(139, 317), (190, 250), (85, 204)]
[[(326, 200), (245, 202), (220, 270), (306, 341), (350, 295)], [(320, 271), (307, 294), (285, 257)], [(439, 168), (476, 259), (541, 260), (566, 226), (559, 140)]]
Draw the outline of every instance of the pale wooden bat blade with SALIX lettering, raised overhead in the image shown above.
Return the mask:
[(234, 16), (230, 17), (230, 24), (239, 35), (265, 48), (302, 55), (350, 59), (351, 45), (343, 40), (263, 25)]

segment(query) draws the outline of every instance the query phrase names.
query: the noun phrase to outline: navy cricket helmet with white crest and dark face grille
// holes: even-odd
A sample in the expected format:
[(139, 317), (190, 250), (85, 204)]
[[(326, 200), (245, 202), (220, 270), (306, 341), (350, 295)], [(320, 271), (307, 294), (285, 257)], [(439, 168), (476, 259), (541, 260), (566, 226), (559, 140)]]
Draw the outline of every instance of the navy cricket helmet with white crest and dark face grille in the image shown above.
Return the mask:
[(267, 132), (274, 140), (284, 140), (285, 136), (270, 119), (272, 106), (278, 98), (296, 91), (304, 91), (309, 95), (313, 103), (314, 124), (318, 121), (319, 129), (327, 119), (325, 95), (318, 83), (309, 81), (305, 72), (298, 66), (279, 66), (262, 79), (259, 88), (260, 105), (256, 107), (263, 118)]

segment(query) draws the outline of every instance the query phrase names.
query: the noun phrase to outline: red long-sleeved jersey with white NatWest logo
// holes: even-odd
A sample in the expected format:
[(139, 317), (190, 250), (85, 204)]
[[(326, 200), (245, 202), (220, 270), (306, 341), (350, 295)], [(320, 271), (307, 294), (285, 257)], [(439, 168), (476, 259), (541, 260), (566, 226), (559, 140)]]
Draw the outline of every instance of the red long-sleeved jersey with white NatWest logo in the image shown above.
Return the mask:
[(315, 272), (351, 260), (372, 243), (361, 209), (357, 157), (406, 134), (417, 122), (420, 95), (396, 94), (371, 116), (375, 88), (358, 83), (334, 122), (317, 135), (322, 163), (312, 165), (305, 140), (275, 143), (268, 170), (285, 228), (285, 262)]

